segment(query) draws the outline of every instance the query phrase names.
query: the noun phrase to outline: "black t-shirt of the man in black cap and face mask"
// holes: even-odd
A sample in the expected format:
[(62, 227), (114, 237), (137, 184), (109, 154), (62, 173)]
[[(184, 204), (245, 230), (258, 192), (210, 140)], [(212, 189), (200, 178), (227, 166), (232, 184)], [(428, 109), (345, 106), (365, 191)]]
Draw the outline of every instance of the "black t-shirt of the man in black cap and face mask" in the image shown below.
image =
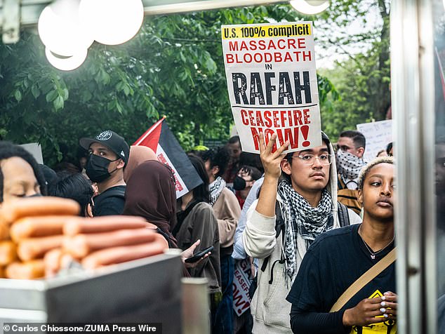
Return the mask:
[(94, 197), (94, 217), (121, 215), (125, 205), (125, 185), (111, 187)]

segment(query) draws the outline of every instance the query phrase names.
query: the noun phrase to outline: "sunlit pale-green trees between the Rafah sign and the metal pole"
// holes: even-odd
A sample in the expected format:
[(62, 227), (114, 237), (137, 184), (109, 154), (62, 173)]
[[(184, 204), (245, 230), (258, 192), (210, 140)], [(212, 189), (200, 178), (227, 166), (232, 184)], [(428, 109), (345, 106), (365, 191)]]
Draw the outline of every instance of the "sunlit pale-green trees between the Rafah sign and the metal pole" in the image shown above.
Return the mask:
[[(368, 22), (370, 12), (378, 22)], [(368, 29), (353, 31), (351, 22)], [(389, 24), (390, 4), (385, 0), (332, 0), (317, 20), (319, 44), (347, 57), (334, 69), (320, 71), (340, 95), (339, 100), (328, 97), (327, 108), (321, 109), (324, 130), (331, 138), (357, 123), (385, 119), (390, 107)]]

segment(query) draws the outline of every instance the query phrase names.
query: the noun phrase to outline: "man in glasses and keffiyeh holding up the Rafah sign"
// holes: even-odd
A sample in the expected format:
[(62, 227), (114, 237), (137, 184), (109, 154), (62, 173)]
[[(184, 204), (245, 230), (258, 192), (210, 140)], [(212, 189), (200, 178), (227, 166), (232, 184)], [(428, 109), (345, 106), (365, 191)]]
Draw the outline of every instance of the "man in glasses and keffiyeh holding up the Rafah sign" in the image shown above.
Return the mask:
[(307, 248), (322, 232), (360, 222), (345, 206), (339, 209), (333, 147), (324, 133), (321, 138), (319, 147), (286, 155), (288, 142), (272, 153), (276, 135), (267, 146), (260, 135), (264, 182), (242, 236), (246, 253), (260, 259), (251, 302), (255, 334), (291, 332), (286, 295)]

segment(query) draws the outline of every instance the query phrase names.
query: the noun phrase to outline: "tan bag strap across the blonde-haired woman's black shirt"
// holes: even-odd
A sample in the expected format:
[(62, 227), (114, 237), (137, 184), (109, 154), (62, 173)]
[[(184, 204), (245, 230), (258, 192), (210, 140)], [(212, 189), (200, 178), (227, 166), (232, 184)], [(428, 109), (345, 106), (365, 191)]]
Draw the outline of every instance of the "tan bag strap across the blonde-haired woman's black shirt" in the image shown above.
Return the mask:
[(361, 288), (366, 286), (370, 281), (372, 281), (380, 272), (383, 272), (387, 267), (390, 267), (392, 262), (396, 260), (396, 247), (392, 248), (390, 253), (387, 253), (385, 255), (385, 258), (378, 261), (375, 265), (373, 265), (371, 268), (368, 269), (367, 272), (365, 272), (363, 275), (361, 275), (357, 281), (354, 281), (350, 285), (349, 288), (345, 290), (343, 295), (340, 295), (340, 298), (336, 301), (336, 303), (331, 307), (331, 311), (329, 312), (337, 312), (340, 311), (340, 309), (345, 306), (345, 304), (350, 300), (354, 295), (356, 295)]

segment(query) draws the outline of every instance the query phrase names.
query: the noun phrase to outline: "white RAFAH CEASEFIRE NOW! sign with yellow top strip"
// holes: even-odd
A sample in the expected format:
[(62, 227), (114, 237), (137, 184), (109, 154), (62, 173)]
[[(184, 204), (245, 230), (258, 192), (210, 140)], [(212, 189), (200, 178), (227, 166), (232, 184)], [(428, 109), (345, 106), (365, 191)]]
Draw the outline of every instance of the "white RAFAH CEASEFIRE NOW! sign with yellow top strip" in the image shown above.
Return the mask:
[[(223, 25), (227, 88), (241, 146), (277, 134), (287, 152), (321, 145), (312, 22)], [(274, 147), (276, 149), (276, 147)], [(285, 151), (286, 152), (286, 151)]]

